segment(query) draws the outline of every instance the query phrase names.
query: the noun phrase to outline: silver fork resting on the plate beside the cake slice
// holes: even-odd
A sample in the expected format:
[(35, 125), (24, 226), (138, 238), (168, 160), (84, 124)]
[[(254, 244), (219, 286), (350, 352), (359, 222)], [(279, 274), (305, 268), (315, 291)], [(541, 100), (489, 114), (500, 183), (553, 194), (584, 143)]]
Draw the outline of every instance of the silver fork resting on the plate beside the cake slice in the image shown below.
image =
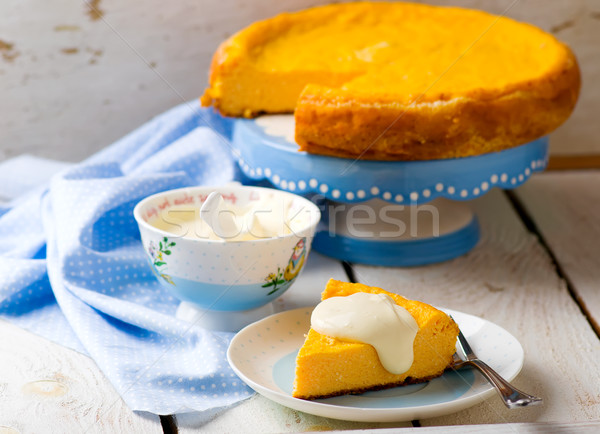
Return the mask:
[(542, 398), (521, 392), (502, 378), (496, 371), (490, 368), (486, 363), (479, 360), (467, 339), (461, 331), (458, 332), (458, 347), (463, 352), (466, 360), (462, 360), (457, 353), (454, 353), (452, 368), (459, 369), (463, 366), (473, 366), (496, 388), (504, 404), (508, 408), (526, 407), (528, 405), (538, 405), (542, 403)]

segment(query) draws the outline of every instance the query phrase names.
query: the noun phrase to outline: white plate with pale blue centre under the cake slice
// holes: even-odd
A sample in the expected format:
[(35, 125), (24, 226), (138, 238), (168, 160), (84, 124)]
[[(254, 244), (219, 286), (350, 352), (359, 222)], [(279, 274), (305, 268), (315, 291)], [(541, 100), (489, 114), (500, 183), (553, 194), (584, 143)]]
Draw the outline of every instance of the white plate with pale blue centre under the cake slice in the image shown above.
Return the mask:
[[(313, 308), (277, 313), (250, 324), (231, 341), (227, 359), (237, 375), (261, 395), (317, 416), (359, 422), (399, 422), (442, 416), (471, 407), (495, 390), (470, 368), (446, 371), (427, 383), (307, 401), (294, 398), (295, 361), (310, 328)], [(484, 362), (506, 380), (521, 371), (523, 347), (502, 327), (482, 318), (443, 309), (452, 315)]]

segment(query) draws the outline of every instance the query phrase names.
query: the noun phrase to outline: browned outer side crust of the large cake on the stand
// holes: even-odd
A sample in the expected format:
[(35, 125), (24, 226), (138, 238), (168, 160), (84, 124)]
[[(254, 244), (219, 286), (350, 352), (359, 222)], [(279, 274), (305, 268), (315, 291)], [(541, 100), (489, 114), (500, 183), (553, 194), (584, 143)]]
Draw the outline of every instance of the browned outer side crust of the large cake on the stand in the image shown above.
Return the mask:
[(296, 107), (296, 142), (302, 151), (364, 160), (433, 160), (502, 151), (552, 132), (573, 111), (580, 86), (575, 58), (545, 81), (543, 88), (524, 85), (496, 98), (411, 105), (360, 100), (308, 85)]

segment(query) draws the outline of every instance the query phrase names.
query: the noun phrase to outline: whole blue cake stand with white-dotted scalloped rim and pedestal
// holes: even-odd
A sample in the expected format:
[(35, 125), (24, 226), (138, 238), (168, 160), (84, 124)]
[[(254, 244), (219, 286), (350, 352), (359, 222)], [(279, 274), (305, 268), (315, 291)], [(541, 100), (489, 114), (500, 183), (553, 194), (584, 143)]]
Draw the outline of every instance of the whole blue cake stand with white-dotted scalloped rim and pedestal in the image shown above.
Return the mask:
[(356, 161), (298, 152), (293, 115), (238, 119), (232, 128), (246, 176), (320, 205), (315, 250), (372, 265), (424, 265), (467, 253), (479, 225), (466, 201), (515, 188), (548, 162), (546, 138), (468, 158)]

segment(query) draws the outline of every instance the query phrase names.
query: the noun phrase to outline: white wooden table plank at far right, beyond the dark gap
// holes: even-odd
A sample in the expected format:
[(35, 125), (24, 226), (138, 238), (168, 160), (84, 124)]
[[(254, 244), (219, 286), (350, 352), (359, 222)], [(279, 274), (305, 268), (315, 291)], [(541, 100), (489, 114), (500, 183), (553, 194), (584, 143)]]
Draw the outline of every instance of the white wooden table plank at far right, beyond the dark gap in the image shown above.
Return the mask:
[(600, 171), (541, 174), (516, 196), (600, 334)]

